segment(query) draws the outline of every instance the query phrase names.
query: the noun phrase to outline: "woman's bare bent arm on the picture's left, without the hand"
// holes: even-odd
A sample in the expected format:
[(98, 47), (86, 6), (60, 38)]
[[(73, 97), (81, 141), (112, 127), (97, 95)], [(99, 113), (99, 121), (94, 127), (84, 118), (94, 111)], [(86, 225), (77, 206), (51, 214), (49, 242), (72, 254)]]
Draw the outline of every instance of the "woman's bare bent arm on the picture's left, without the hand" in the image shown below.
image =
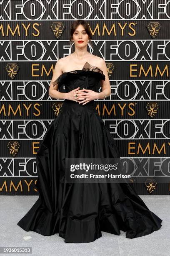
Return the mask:
[(54, 74), (52, 76), (51, 82), (50, 82), (50, 88), (49, 88), (49, 95), (52, 98), (58, 99), (58, 100), (64, 100), (66, 97), (65, 92), (59, 92), (58, 91), (58, 84), (56, 84), (54, 87), (52, 85), (52, 82), (54, 82), (60, 75), (62, 74), (62, 61), (59, 59), (57, 63), (55, 64)]

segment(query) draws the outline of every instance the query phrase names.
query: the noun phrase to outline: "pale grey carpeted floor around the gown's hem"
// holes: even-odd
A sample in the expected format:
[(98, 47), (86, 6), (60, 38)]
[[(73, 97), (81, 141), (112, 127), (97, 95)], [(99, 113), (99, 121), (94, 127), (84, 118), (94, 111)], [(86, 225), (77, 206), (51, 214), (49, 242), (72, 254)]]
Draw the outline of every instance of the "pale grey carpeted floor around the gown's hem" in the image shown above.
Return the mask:
[(42, 236), (33, 231), (27, 232), (17, 225), (38, 196), (0, 196), (0, 246), (32, 247), (31, 255), (35, 256), (170, 255), (170, 197), (168, 195), (140, 195), (140, 197), (148, 208), (163, 220), (160, 230), (134, 239), (125, 238), (123, 231), (120, 236), (102, 232), (102, 237), (91, 243), (65, 243), (58, 234)]

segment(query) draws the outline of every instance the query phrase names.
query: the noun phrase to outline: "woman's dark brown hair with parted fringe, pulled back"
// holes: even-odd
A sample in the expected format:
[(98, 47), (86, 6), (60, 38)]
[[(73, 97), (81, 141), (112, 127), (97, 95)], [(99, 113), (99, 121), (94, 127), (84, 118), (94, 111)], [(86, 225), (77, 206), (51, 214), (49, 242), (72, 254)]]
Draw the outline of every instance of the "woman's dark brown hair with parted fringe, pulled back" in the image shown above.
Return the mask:
[[(92, 33), (90, 31), (89, 25), (85, 20), (75, 20), (72, 25), (71, 25), (71, 30), (70, 30), (70, 45), (71, 45), (71, 41), (72, 41), (72, 36), (74, 31), (76, 30), (77, 26), (82, 25), (87, 33), (87, 35), (89, 36), (89, 44), (92, 46)], [(72, 52), (72, 48), (71, 48), (71, 52)]]

